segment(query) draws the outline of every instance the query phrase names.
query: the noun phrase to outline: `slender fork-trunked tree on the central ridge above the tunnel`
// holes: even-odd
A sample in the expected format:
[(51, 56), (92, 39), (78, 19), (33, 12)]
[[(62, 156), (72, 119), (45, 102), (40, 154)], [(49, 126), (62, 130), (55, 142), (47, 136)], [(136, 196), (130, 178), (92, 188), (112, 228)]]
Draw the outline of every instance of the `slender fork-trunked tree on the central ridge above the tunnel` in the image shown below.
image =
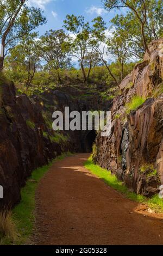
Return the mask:
[[(83, 72), (84, 82), (89, 81), (90, 71), (93, 66), (93, 61), (97, 56), (97, 50), (99, 48), (99, 41), (97, 41), (97, 34), (104, 29), (103, 20), (101, 17), (97, 17), (92, 21), (92, 26), (89, 22), (84, 21), (83, 16), (67, 15), (64, 21), (64, 27), (71, 34), (71, 54), (76, 57), (80, 63), (80, 67)], [(101, 31), (102, 33), (102, 31)], [(84, 65), (89, 62), (89, 70), (86, 74)]]

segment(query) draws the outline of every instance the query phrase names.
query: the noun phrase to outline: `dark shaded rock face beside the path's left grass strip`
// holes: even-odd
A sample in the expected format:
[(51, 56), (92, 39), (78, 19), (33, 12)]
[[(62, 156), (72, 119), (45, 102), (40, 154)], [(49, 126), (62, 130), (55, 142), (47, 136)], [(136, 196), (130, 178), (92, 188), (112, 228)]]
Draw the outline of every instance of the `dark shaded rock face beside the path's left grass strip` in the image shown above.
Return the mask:
[(26, 95), (16, 97), (14, 84), (1, 81), (0, 109), (2, 208), (20, 200), (20, 189), (32, 170), (47, 164), (69, 146), (65, 143), (62, 148), (62, 145), (43, 136), (43, 131), (48, 131), (48, 128), (40, 104), (32, 103)]

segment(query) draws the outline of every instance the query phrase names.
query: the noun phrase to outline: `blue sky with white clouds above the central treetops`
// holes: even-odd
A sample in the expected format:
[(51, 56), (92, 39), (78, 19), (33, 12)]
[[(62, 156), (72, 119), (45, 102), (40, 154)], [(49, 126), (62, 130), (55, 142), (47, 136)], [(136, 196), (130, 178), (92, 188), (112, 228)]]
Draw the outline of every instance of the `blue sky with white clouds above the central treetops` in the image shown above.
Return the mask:
[(62, 28), (66, 14), (83, 15), (89, 22), (100, 15), (108, 25), (116, 14), (107, 13), (101, 0), (29, 0), (29, 4), (41, 8), (47, 18), (46, 25), (39, 27), (40, 35), (49, 29)]

